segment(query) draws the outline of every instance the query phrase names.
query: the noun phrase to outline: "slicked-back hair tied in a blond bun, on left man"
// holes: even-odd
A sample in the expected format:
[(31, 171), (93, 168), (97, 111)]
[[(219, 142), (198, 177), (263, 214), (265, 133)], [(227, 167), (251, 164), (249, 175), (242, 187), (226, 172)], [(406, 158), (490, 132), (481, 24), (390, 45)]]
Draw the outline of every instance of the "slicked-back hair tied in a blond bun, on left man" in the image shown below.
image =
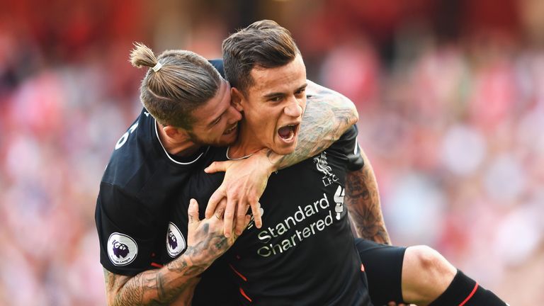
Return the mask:
[(187, 50), (167, 50), (159, 57), (142, 43), (130, 52), (132, 66), (148, 69), (140, 86), (140, 100), (162, 125), (191, 130), (192, 111), (217, 94), (221, 77), (204, 57)]

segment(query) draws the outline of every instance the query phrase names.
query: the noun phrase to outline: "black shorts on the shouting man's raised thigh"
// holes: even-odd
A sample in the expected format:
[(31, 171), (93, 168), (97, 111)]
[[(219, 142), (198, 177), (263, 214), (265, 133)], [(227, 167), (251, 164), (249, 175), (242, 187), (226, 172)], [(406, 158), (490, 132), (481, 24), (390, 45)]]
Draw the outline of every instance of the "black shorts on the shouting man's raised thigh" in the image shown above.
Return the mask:
[(406, 248), (356, 238), (355, 244), (368, 279), (375, 306), (402, 302), (402, 261)]

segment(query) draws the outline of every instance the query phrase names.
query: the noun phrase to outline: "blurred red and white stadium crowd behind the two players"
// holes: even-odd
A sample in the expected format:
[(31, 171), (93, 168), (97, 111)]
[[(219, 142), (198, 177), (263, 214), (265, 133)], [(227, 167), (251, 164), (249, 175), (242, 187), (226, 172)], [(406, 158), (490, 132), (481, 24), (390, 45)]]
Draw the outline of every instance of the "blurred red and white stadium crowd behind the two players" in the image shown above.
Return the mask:
[(351, 98), (395, 244), (544, 300), (544, 1), (4, 0), (0, 305), (105, 305), (94, 208), (139, 113), (132, 42), (221, 56), (268, 18)]

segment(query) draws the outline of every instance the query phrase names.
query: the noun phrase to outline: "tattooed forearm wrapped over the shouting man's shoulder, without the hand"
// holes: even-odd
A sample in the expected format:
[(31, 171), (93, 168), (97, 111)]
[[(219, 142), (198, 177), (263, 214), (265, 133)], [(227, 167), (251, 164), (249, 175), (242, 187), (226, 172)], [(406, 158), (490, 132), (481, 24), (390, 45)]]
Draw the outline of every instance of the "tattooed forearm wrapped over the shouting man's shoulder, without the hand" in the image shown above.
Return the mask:
[(295, 152), (277, 160), (273, 159), (275, 153), (269, 152), (268, 159), (278, 169), (302, 162), (327, 149), (358, 120), (356, 108), (348, 98), (322, 86), (317, 87), (315, 94), (307, 96)]

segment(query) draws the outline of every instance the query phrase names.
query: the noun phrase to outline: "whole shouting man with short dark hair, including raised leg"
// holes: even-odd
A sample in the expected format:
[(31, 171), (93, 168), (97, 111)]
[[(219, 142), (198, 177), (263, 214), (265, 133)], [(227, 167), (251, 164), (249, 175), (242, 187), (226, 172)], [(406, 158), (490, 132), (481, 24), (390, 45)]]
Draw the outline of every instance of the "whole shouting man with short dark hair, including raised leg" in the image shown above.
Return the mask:
[[(304, 123), (306, 106), (305, 67), (290, 33), (272, 21), (259, 21), (227, 38), (223, 51), (225, 72), (233, 86), (232, 101), (244, 118), (237, 142), (214, 149), (205, 164), (243, 159), (265, 147), (290, 152)], [(261, 198), (263, 228), (250, 225), (214, 264), (215, 268), (227, 261), (239, 286), (239, 302), (367, 305), (365, 273), (359, 271), (361, 256), (375, 305), (390, 301), (506, 305), (427, 246), (399, 248), (362, 239), (356, 239), (353, 246), (344, 198), (358, 234), (389, 243), (377, 188), (371, 187), (373, 203), (358, 192), (373, 181), (362, 159), (356, 132), (350, 130), (324, 152), (271, 176)], [(212, 168), (222, 166), (215, 162)], [(197, 172), (183, 195), (205, 203), (220, 180), (221, 176)], [(183, 228), (198, 220), (196, 203), (191, 200), (189, 215), (183, 206), (176, 207), (172, 224)], [(203, 282), (207, 279), (204, 273)], [(209, 286), (208, 291), (200, 291), (196, 299), (211, 290)]]

